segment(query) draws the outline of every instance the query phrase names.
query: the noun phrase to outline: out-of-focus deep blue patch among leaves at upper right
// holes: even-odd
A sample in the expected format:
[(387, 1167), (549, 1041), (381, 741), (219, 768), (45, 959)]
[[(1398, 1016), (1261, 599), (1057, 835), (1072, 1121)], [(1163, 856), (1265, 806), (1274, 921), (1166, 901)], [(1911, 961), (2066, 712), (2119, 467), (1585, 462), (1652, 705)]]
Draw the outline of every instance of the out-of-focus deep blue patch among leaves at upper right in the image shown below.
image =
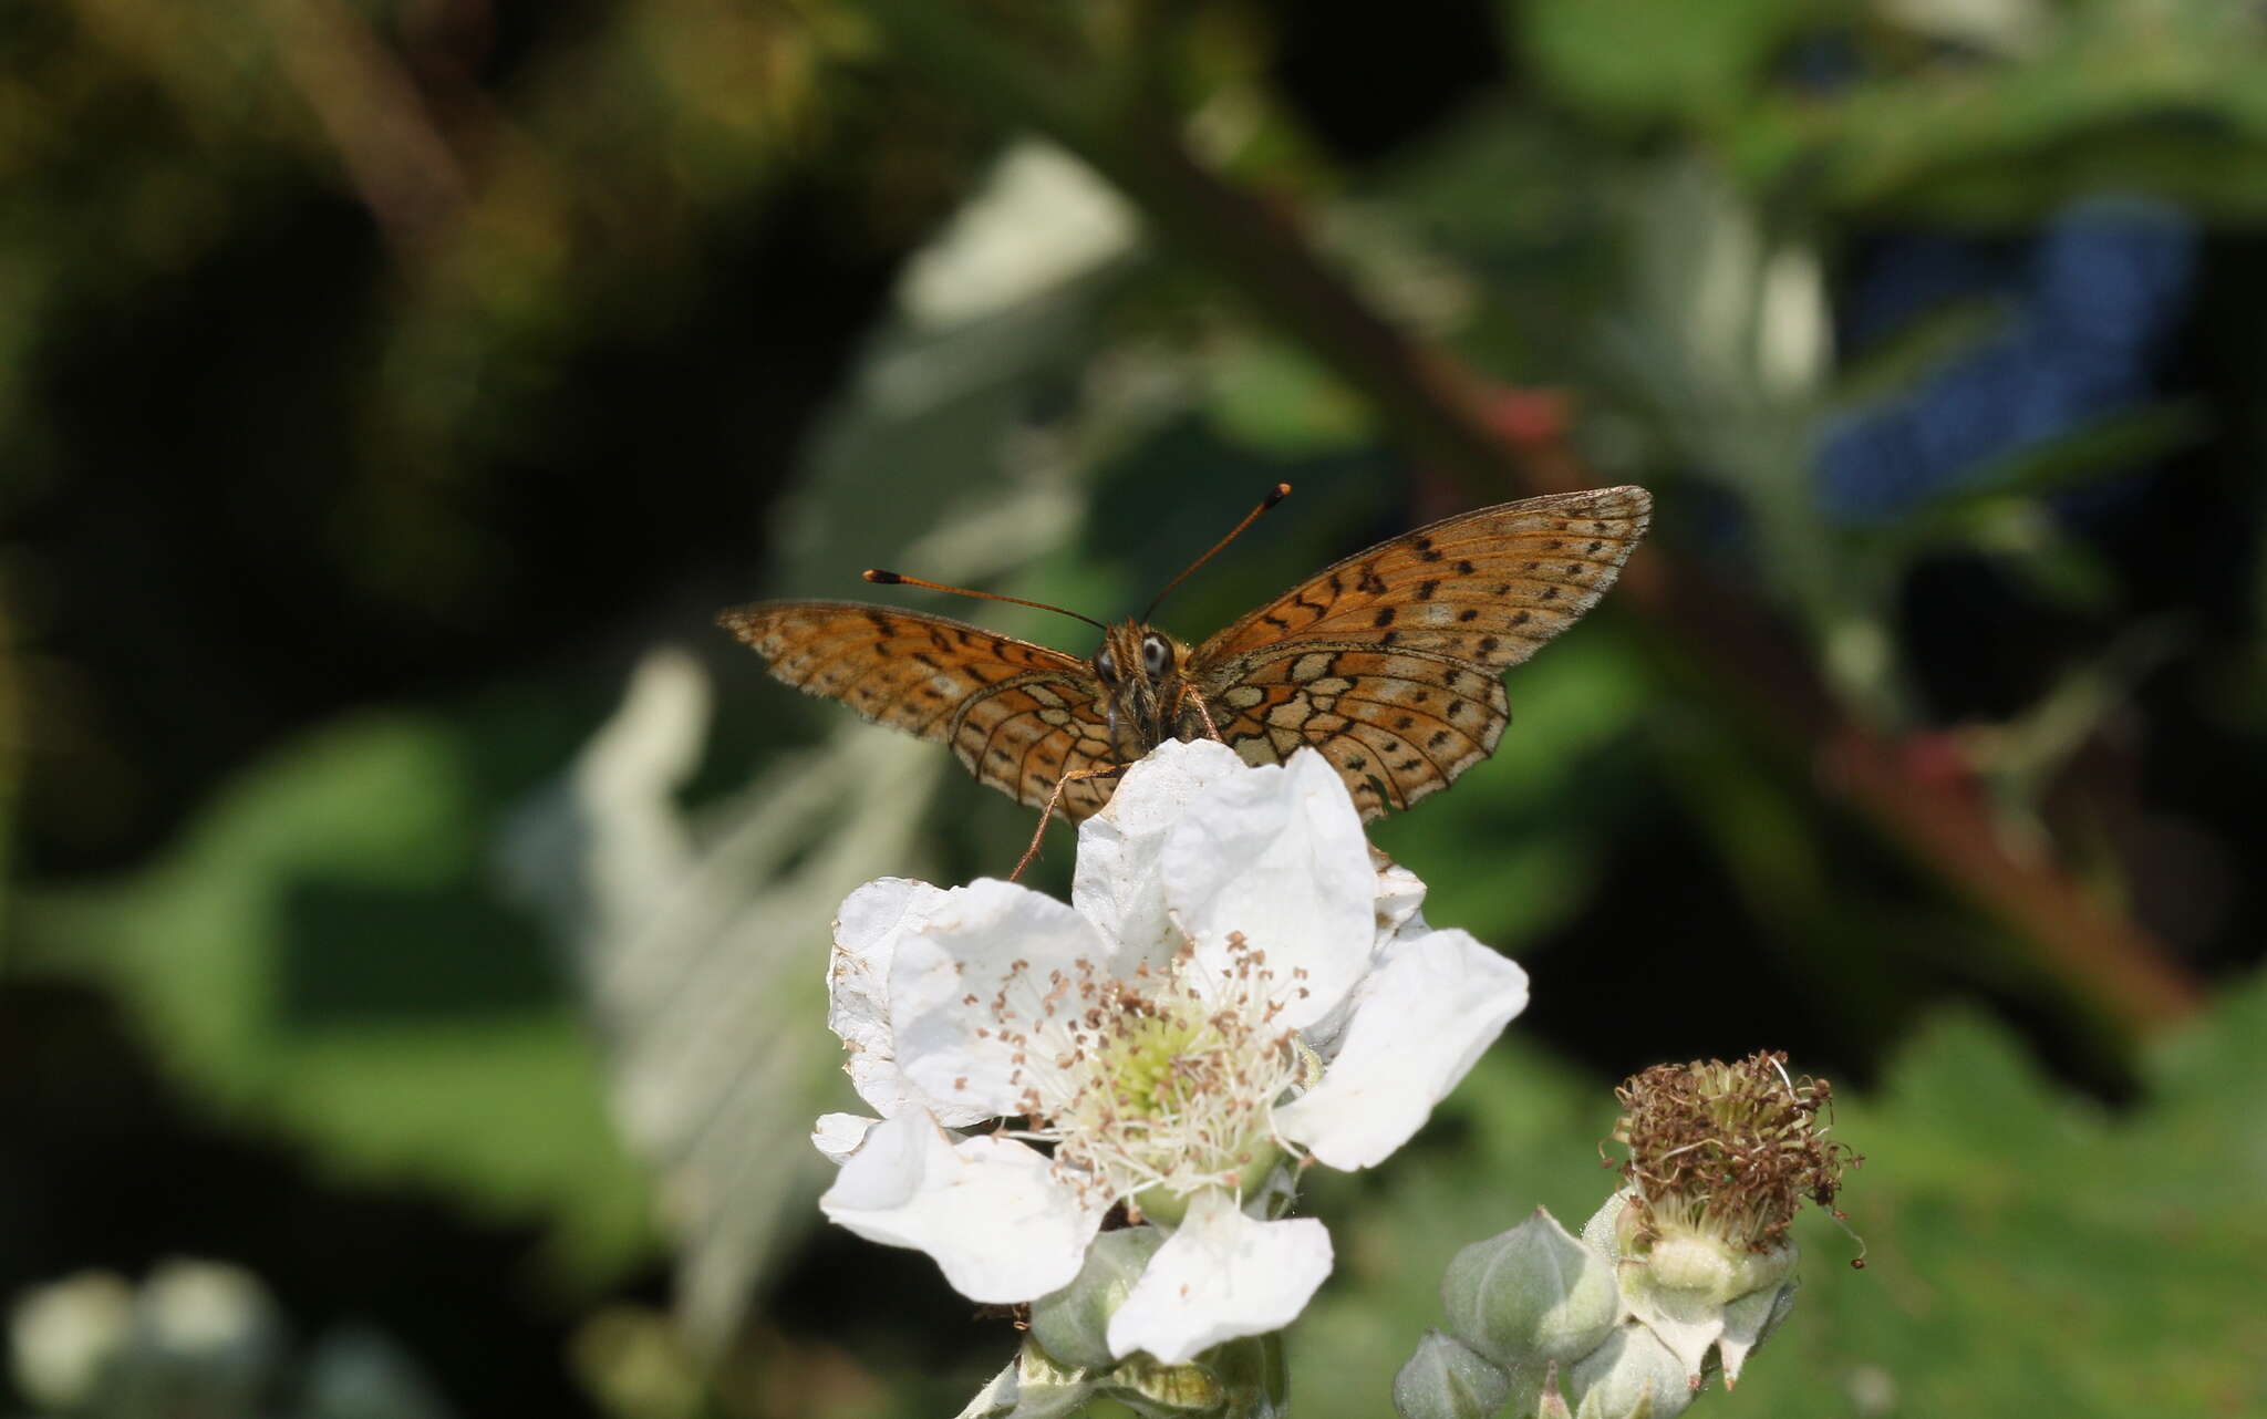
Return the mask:
[(2011, 320), (1918, 388), (1827, 426), (1825, 515), (1884, 521), (1997, 458), (2145, 403), (2194, 265), (2194, 222), (2140, 197), (2074, 202), (2013, 252), (1947, 236), (1884, 243), (1845, 297), (1852, 349), (1963, 295), (2002, 297)]

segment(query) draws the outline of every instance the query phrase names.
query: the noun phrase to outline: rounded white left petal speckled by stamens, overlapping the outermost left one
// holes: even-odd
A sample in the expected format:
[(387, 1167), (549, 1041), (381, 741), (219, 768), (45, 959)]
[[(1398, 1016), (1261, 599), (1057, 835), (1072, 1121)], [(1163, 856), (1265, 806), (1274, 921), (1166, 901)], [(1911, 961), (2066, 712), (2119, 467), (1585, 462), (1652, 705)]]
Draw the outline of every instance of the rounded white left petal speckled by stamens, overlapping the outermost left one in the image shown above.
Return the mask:
[(1025, 1045), (1050, 979), (1106, 966), (1106, 943), (1054, 898), (979, 877), (954, 886), (898, 941), (891, 1047), (914, 1088), (979, 1118), (1022, 1113)]

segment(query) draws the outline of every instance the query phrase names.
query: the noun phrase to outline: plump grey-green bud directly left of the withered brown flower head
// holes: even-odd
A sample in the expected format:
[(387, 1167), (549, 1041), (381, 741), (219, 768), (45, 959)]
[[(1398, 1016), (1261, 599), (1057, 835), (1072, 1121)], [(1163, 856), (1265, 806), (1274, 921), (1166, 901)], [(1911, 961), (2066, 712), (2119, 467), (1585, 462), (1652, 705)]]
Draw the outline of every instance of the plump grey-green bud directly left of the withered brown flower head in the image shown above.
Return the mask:
[(1619, 1315), (1612, 1263), (1542, 1208), (1458, 1251), (1440, 1297), (1449, 1328), (1508, 1367), (1578, 1360), (1598, 1349)]

